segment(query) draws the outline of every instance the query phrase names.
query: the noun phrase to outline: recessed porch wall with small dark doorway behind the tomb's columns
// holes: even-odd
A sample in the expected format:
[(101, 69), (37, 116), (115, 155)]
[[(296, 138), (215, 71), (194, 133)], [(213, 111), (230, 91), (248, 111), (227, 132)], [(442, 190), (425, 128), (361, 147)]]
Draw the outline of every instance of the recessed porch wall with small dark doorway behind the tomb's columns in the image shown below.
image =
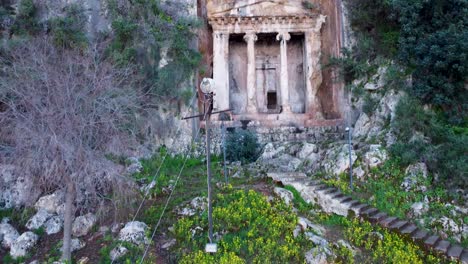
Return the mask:
[[(229, 105), (235, 114), (279, 114), (282, 112), (281, 58), (277, 34), (257, 34), (255, 42), (254, 84), (247, 80), (247, 43), (245, 34), (229, 37)], [(287, 47), (287, 97), (292, 113), (305, 113), (306, 80), (304, 76), (304, 34), (291, 33)], [(248, 89), (254, 87), (253, 105), (248, 107)]]

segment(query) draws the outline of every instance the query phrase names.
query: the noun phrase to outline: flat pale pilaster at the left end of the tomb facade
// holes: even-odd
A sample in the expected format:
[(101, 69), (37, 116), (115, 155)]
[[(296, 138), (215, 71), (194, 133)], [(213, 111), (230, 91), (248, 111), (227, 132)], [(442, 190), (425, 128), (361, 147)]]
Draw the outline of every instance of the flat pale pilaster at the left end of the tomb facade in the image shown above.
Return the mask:
[(215, 96), (213, 108), (229, 108), (229, 33), (213, 32), (213, 80)]

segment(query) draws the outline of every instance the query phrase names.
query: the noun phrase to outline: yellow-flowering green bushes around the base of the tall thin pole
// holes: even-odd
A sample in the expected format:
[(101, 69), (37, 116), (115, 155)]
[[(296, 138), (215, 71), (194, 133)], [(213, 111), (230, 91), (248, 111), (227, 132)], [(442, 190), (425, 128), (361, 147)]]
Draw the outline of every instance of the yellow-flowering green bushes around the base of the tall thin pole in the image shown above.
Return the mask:
[[(216, 196), (213, 208), (220, 253), (210, 256), (201, 251), (208, 241), (206, 214), (183, 218), (175, 225), (182, 263), (195, 263), (196, 259), (205, 263), (298, 263), (310, 249), (302, 235), (293, 237), (297, 216), (282, 201), (269, 202), (256, 191), (228, 186)], [(194, 232), (197, 226), (203, 231)]]

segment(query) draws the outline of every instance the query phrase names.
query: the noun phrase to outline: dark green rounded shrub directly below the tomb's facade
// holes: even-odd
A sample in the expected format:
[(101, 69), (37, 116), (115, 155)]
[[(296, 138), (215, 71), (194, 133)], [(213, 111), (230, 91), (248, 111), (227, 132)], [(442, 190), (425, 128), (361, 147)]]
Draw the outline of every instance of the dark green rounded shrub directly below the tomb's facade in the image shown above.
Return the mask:
[(258, 158), (260, 145), (257, 136), (244, 129), (230, 132), (226, 139), (226, 158), (242, 163), (253, 162)]

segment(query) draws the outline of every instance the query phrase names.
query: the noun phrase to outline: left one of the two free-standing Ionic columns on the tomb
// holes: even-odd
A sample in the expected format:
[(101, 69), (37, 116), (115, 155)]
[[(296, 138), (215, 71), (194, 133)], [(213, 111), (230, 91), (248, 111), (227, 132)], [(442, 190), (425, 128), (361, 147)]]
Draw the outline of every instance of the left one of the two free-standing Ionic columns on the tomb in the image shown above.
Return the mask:
[(257, 113), (255, 96), (255, 41), (257, 41), (257, 35), (254, 32), (248, 32), (245, 34), (244, 40), (247, 42), (247, 112)]

